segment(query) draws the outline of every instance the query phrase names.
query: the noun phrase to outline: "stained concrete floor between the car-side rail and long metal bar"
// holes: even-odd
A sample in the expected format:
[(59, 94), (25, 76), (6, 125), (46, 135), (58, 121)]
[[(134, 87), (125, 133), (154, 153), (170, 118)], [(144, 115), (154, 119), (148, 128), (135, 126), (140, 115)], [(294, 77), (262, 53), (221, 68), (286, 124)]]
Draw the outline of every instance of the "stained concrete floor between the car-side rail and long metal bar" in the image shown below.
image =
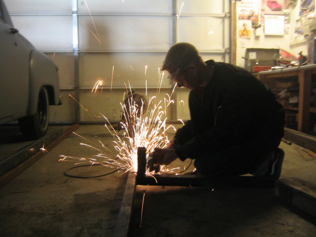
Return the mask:
[[(82, 125), (75, 132), (95, 144), (98, 139), (109, 144), (112, 136), (103, 128)], [(64, 171), (76, 162), (59, 161), (59, 155), (98, 154), (82, 142), (93, 145), (70, 135), (0, 189), (0, 236), (113, 236), (126, 176), (115, 172), (99, 178), (66, 177)], [(88, 166), (69, 174), (97, 176), (112, 171)]]

